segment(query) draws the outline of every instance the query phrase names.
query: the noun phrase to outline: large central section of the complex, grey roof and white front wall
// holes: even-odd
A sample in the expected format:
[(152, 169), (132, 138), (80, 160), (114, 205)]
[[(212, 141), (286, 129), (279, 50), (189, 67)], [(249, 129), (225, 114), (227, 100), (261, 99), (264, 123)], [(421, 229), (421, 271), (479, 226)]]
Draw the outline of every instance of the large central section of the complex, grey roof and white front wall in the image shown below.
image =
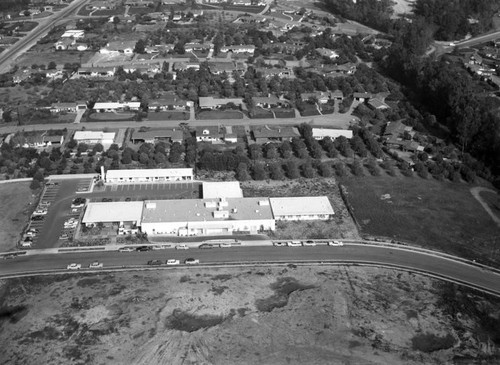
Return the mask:
[(275, 229), (269, 198), (149, 200), (142, 232), (148, 236), (206, 236)]

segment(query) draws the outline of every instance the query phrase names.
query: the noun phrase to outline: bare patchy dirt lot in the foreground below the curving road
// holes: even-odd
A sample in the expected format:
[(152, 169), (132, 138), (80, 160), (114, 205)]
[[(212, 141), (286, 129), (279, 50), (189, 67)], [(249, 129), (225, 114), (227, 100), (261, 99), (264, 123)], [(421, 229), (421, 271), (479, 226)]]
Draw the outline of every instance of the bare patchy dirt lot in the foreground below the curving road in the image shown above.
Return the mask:
[(77, 274), (0, 293), (6, 365), (500, 361), (498, 299), (385, 269)]

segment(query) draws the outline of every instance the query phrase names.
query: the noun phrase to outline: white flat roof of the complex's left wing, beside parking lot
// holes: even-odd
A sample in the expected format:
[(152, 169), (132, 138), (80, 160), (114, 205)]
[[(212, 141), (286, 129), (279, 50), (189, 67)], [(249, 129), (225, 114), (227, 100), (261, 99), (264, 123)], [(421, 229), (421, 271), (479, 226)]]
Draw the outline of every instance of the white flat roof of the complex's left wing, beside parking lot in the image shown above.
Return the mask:
[(82, 223), (137, 222), (141, 223), (143, 202), (89, 203)]

